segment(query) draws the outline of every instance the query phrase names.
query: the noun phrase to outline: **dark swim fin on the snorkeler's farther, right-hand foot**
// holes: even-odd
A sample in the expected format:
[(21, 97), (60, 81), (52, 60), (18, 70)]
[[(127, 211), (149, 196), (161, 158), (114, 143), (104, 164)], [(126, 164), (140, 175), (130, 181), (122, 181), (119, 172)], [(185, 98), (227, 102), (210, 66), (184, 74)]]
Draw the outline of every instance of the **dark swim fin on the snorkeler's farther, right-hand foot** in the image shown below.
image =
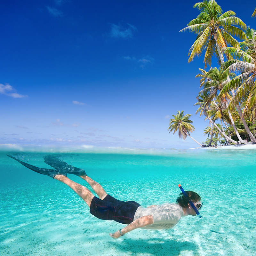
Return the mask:
[(60, 155), (48, 155), (44, 157), (44, 163), (52, 166), (57, 170), (65, 170), (67, 173), (77, 176), (87, 176), (84, 169), (77, 168), (59, 159)]

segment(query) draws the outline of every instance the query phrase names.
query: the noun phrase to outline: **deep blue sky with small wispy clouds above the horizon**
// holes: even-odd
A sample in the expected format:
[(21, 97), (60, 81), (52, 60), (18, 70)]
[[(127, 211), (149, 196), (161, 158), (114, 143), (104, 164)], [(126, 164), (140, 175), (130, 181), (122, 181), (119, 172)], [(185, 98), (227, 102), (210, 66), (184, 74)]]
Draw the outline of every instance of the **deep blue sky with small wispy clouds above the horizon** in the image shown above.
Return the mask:
[[(167, 131), (177, 110), (195, 116), (203, 58), (180, 33), (193, 1), (5, 1), (0, 16), (0, 143), (190, 148)], [(231, 3), (231, 4), (230, 4)], [(255, 1), (218, 1), (246, 25)], [(212, 66), (215, 66), (215, 60)]]

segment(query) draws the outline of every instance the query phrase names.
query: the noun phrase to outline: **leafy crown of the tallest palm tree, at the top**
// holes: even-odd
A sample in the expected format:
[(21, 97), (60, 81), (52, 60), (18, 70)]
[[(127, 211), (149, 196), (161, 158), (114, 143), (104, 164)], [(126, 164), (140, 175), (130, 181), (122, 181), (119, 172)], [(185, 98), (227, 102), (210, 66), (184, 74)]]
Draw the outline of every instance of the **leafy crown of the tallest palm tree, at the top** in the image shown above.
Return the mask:
[(245, 40), (246, 36), (242, 29), (245, 30), (246, 25), (236, 17), (235, 12), (222, 13), (220, 5), (214, 0), (196, 3), (193, 7), (201, 10), (200, 14), (196, 19), (191, 20), (186, 28), (180, 30), (180, 32), (189, 30), (197, 35), (195, 43), (189, 49), (188, 62), (192, 61), (196, 55), (200, 56), (202, 51), (206, 49), (204, 54), (205, 68), (207, 64), (211, 66), (214, 53), (221, 64), (224, 62), (224, 58), (220, 49), (226, 47), (227, 44), (239, 48), (239, 44), (233, 36)]

